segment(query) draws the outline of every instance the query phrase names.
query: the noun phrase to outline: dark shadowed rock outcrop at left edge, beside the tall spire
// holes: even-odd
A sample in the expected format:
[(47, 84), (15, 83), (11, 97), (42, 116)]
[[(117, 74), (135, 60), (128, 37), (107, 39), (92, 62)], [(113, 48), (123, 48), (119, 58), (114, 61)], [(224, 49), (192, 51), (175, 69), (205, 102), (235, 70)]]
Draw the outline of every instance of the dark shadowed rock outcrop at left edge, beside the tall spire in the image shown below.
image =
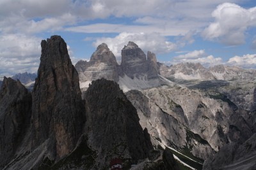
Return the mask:
[(0, 169), (19, 148), (30, 118), (31, 94), (20, 81), (4, 77), (0, 90)]

